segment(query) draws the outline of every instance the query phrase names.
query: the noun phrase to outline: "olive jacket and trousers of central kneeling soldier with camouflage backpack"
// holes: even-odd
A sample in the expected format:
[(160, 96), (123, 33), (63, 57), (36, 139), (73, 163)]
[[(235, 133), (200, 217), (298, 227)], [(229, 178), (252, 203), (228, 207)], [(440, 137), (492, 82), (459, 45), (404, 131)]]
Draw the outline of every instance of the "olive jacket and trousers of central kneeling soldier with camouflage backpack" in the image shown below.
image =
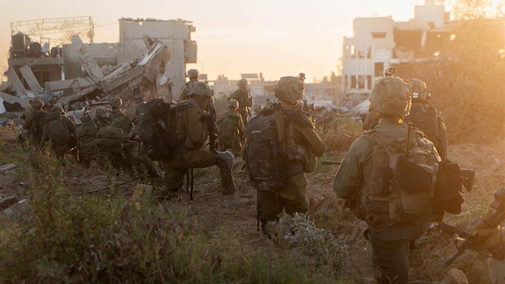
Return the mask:
[[(293, 138), (295, 144), (303, 146), (306, 152), (310, 153), (307, 154), (305, 158), (310, 160), (308, 163), (315, 165), (317, 163), (316, 156), (321, 157), (324, 154), (326, 146), (316, 133), (310, 115), (301, 110), (299, 110), (297, 114), (303, 117), (305, 123), (293, 123)], [(294, 164), (297, 162), (287, 161), (287, 163), (294, 167)], [(269, 233), (265, 225), (268, 222), (276, 221), (283, 209), (286, 210), (287, 214), (307, 212), (309, 206), (307, 178), (305, 177), (301, 163), (300, 169), (300, 172), (288, 178), (286, 187), (276, 193), (258, 192), (260, 220), (263, 232)]]

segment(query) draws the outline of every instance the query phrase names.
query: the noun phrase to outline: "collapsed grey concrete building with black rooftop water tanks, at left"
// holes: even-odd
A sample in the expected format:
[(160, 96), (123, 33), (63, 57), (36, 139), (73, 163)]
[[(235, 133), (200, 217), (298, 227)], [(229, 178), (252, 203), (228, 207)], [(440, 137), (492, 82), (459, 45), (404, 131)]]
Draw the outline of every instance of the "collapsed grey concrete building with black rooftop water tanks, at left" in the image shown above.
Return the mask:
[[(180, 19), (121, 18), (119, 43), (94, 43), (91, 17), (23, 21), (11, 27), (8, 82), (0, 90), (10, 110), (25, 108), (34, 97), (80, 109), (111, 96), (128, 99), (134, 87), (169, 101), (185, 82), (186, 64), (197, 62), (197, 44), (191, 40), (195, 28)], [(48, 33), (58, 32), (65, 39), (56, 46), (44, 41)], [(84, 36), (89, 43), (81, 40)]]

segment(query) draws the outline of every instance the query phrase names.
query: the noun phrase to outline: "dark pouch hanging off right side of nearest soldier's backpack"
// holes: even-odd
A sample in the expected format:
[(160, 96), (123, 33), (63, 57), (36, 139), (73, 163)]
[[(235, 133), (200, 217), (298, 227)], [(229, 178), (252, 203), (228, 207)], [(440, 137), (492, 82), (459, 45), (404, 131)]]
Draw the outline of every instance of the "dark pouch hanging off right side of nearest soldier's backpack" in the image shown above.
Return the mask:
[(438, 212), (460, 214), (465, 202), (462, 191), (463, 177), (458, 164), (444, 159), (439, 162), (435, 189), (435, 209)]

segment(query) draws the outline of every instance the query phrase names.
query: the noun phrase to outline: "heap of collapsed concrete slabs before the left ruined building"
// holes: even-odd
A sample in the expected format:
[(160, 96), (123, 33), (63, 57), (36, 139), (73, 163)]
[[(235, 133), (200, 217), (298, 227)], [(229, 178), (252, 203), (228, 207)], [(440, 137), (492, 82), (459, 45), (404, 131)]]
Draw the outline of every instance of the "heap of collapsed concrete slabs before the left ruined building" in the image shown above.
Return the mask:
[(144, 38), (147, 52), (141, 58), (115, 67), (105, 65), (100, 68), (88, 52), (86, 44), (79, 36), (74, 36), (71, 38), (70, 46), (78, 54), (81, 68), (88, 76), (48, 81), (43, 87), (35, 78), (30, 64), (19, 68), (26, 84), (21, 82), (14, 68), (10, 67), (5, 72), (8, 83), (0, 87), (0, 100), (2, 100), (0, 103), (7, 106), (6, 109), (0, 109), (0, 113), (3, 113), (0, 116), (0, 123), (5, 123), (9, 119), (18, 120), (23, 114), (22, 109), (29, 106), (32, 98), (42, 98), (46, 105), (80, 110), (90, 103), (108, 101), (108, 98), (113, 96), (128, 98), (125, 101), (129, 101), (130, 91), (135, 87), (144, 87), (155, 92), (156, 88), (160, 88), (160, 82), (169, 84), (167, 78), (161, 76), (160, 79), (160, 70), (164, 69), (171, 58), (169, 48), (157, 39), (148, 36)]

